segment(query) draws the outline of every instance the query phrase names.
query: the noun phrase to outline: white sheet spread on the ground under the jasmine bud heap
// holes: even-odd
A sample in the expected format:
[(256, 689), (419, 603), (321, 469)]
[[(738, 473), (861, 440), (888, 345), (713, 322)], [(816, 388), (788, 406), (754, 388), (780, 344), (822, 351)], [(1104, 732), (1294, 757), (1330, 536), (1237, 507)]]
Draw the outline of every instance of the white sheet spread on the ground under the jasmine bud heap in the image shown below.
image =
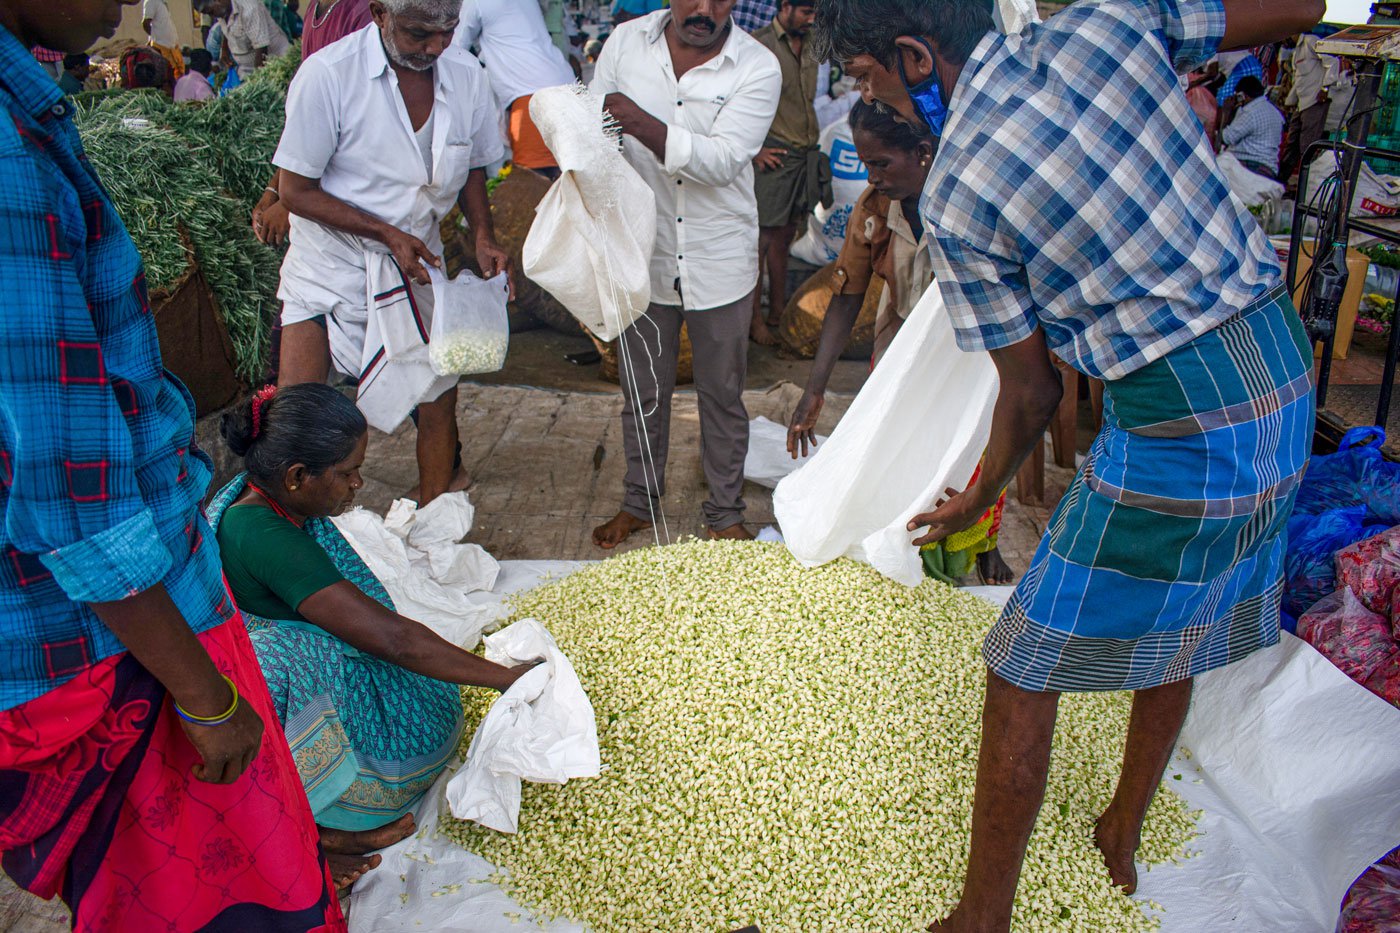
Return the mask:
[[(497, 594), (577, 566), (505, 562)], [(1166, 911), (1163, 933), (1329, 932), (1351, 881), (1400, 843), (1400, 710), (1292, 636), (1201, 677), (1182, 745), (1190, 758), (1166, 780), (1203, 811), (1197, 855), (1142, 871), (1138, 890)], [(533, 922), (487, 862), (434, 838), (444, 783), (419, 813), (423, 838), (356, 885), (351, 932), (582, 933)]]

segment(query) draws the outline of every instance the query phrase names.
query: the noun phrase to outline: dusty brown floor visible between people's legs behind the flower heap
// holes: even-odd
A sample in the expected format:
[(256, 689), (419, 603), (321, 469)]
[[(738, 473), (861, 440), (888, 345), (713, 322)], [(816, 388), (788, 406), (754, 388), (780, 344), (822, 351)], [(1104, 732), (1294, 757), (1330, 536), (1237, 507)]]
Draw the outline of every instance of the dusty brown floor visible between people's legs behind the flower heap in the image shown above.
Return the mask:
[[(477, 510), (470, 539), (498, 559), (606, 556), (592, 545), (589, 534), (617, 511), (622, 500), (622, 394), (598, 378), (596, 364), (573, 366), (563, 359), (588, 349), (591, 343), (582, 336), (550, 331), (518, 333), (512, 336), (505, 370), (463, 382), (461, 388), (458, 420)], [(785, 423), (801, 398), (808, 368), (806, 361), (785, 360), (753, 346), (745, 395), (750, 417), (764, 415)], [(829, 433), (850, 406), (865, 373), (864, 363), (837, 366), (819, 424), (822, 433)], [(672, 541), (704, 532), (699, 430), (694, 392), (682, 389), (672, 415), (668, 495), (662, 509)], [(407, 423), (392, 436), (372, 433), (360, 504), (382, 511), (414, 485), (413, 443), (413, 427)], [(227, 462), (221, 466), (227, 471)], [(1050, 506), (1071, 476), (1071, 471), (1056, 468), (1053, 461), (1047, 464), (1047, 507), (1022, 506), (1008, 496), (1001, 548), (1018, 574), (1025, 572)], [(771, 523), (770, 490), (749, 483), (745, 499), (750, 528)], [(651, 535), (638, 534), (619, 551), (650, 544)], [(0, 932), (59, 933), (69, 929), (67, 918), (62, 902), (39, 901), (0, 876)]]

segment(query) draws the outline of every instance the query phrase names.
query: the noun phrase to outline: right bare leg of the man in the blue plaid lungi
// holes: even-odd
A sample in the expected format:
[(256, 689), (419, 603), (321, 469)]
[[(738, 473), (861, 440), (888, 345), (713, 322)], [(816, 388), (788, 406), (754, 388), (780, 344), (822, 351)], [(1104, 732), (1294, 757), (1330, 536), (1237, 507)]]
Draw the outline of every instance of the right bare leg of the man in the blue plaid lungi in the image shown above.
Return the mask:
[(1093, 842), (1103, 853), (1113, 884), (1127, 894), (1137, 890), (1137, 855), (1142, 820), (1162, 773), (1172, 759), (1176, 737), (1191, 706), (1191, 681), (1163, 684), (1133, 695), (1128, 741), (1123, 749), (1123, 775), (1107, 810), (1093, 828)]

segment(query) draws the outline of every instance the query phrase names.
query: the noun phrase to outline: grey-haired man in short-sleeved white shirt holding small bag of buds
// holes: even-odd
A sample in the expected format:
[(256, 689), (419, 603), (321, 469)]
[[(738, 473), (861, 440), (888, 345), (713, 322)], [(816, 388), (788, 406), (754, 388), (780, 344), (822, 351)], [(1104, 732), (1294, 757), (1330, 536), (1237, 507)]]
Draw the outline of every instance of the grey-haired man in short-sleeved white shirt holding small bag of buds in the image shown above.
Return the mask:
[[(461, 3), (371, 0), (372, 24), (297, 71), (273, 157), (291, 212), (279, 382), (323, 381), (329, 340), (371, 424), (393, 430), (417, 406), (420, 504), (452, 488), (458, 450), (456, 377), (438, 377), (419, 352), (427, 266), (442, 268), (440, 224), (454, 205), (482, 269), (508, 266), (484, 171), (504, 146), (486, 71), (452, 45)], [(410, 324), (421, 339), (406, 345), (395, 335), (412, 338)]]

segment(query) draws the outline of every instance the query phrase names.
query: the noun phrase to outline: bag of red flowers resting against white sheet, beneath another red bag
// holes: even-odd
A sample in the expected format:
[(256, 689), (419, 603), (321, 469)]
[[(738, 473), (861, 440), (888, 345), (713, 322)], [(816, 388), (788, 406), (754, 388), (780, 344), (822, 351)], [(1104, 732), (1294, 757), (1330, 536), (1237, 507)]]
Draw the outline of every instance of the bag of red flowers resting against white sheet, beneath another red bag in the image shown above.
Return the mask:
[(1317, 601), (1298, 619), (1298, 637), (1343, 674), (1400, 706), (1400, 643), (1390, 619), (1372, 612), (1348, 590)]

